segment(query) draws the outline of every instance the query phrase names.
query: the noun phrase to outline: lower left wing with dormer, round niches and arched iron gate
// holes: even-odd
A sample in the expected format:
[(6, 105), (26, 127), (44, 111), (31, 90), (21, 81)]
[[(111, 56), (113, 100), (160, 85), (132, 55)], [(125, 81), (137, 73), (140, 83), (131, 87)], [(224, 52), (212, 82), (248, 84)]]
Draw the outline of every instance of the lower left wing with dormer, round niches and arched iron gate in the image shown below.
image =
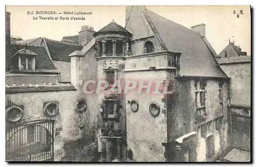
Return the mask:
[[(10, 15), (6, 12), (6, 160), (95, 160), (97, 146), (80, 143), (94, 142), (93, 135), (84, 137), (84, 127), (93, 133), (96, 123), (88, 122), (86, 103), (71, 84), (68, 55), (82, 45), (41, 37), (13, 41)], [(91, 157), (77, 158), (79, 149)]]

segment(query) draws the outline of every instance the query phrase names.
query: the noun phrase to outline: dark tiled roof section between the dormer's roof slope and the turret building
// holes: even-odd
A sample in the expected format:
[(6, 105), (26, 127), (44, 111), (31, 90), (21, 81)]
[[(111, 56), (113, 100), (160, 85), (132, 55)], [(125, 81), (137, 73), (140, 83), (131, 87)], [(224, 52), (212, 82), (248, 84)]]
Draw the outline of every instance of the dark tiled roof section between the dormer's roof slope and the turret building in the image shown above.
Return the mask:
[(69, 54), (81, 50), (82, 46), (67, 44), (44, 38), (53, 61), (70, 62)]

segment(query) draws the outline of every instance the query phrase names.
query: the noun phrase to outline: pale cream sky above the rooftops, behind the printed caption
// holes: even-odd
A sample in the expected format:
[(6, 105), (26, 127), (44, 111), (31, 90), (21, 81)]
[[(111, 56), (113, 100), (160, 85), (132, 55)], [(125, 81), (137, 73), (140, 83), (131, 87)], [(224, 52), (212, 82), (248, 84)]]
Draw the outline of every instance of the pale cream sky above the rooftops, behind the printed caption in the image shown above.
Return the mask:
[[(234, 40), (242, 51), (250, 55), (250, 7), (249, 6), (146, 6), (167, 19), (190, 29), (191, 26), (205, 23), (206, 38), (219, 54)], [(240, 13), (239, 18), (233, 11)], [(109, 24), (113, 19), (124, 26), (125, 6), (6, 6), (11, 12), (11, 35), (22, 39), (46, 37), (60, 41), (63, 36), (77, 35), (82, 25), (93, 26), (95, 31)], [(92, 12), (92, 15), (35, 14), (36, 11)], [(28, 12), (30, 14), (28, 14)], [(33, 14), (31, 14), (33, 12)], [(85, 20), (40, 20), (43, 17), (85, 17)], [(37, 17), (34, 20), (33, 17)]]

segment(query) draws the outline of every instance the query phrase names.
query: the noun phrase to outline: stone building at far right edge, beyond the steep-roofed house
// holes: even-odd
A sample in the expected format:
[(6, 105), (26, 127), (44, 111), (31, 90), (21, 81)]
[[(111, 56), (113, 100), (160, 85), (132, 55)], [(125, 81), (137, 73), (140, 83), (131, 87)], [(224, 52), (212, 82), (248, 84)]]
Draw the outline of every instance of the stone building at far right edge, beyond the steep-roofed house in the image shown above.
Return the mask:
[[(230, 128), (231, 149), (250, 152), (251, 134), (251, 56), (241, 51), (234, 42), (218, 55), (218, 63), (231, 78), (230, 82)], [(241, 158), (241, 153), (238, 154)]]

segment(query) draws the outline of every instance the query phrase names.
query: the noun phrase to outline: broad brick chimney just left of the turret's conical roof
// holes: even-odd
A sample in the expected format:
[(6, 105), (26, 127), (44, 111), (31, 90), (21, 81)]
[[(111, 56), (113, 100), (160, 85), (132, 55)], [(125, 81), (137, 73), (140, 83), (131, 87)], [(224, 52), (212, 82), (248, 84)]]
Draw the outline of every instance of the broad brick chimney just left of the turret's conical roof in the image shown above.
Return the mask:
[(78, 44), (87, 45), (93, 39), (94, 33), (94, 27), (89, 25), (81, 26), (81, 31), (78, 32)]

